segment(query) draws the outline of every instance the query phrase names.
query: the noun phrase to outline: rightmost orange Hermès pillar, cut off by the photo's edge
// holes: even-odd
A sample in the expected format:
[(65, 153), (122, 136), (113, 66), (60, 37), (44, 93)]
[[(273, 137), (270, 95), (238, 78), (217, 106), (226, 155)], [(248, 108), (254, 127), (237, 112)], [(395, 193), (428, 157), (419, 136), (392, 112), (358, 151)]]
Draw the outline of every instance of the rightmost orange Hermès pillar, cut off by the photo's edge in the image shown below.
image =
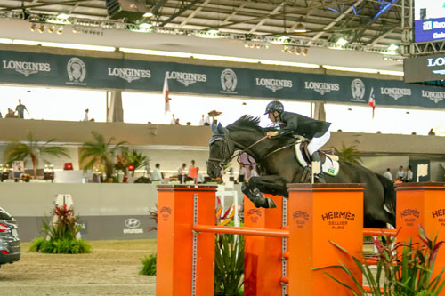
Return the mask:
[[(425, 228), (426, 234), (438, 241), (445, 240), (445, 183), (421, 182), (396, 184), (397, 216), (396, 226), (400, 229), (398, 241), (413, 243), (420, 241), (418, 225)], [(434, 264), (433, 277), (445, 266), (443, 246)], [(440, 293), (445, 295), (445, 291)]]

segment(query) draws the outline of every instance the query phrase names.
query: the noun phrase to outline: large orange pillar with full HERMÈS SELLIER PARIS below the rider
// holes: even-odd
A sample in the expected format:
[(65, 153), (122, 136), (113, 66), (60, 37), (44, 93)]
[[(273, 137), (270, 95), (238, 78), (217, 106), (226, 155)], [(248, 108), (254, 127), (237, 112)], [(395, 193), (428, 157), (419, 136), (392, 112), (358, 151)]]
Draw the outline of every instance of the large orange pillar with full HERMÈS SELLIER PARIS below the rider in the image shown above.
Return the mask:
[(351, 257), (338, 250), (341, 245), (356, 258), (363, 248), (363, 184), (287, 184), (289, 191), (288, 249), (289, 295), (350, 295), (344, 286), (324, 274), (327, 272), (344, 283), (352, 280), (339, 268), (344, 265), (361, 282), (360, 269)]

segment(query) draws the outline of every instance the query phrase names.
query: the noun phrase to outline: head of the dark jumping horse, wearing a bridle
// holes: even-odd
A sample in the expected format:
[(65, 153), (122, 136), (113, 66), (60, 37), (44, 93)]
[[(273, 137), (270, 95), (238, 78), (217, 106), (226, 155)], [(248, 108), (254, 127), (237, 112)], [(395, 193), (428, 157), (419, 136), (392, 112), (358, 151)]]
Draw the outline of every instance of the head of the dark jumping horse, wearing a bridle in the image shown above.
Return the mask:
[(235, 151), (233, 141), (229, 139), (229, 130), (223, 125), (212, 124), (212, 138), (209, 142), (209, 157), (207, 161), (207, 174), (211, 178), (221, 176), (223, 167), (231, 160), (231, 156)]

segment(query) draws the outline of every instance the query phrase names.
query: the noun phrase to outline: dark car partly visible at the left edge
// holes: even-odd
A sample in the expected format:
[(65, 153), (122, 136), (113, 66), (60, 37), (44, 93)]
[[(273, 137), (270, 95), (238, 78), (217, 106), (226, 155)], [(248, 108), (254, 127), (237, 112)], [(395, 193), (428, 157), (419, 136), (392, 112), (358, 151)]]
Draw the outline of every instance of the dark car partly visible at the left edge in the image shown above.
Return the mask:
[(20, 248), (17, 220), (0, 208), (0, 267), (20, 260)]

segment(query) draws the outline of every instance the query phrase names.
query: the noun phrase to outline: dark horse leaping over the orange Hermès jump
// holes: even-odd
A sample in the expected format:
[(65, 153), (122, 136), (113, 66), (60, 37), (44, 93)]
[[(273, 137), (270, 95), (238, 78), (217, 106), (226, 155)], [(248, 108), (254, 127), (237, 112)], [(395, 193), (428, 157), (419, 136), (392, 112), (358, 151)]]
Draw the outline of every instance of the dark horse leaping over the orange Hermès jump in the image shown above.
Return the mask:
[[(295, 158), (294, 137), (266, 138), (266, 132), (275, 129), (263, 128), (259, 126), (259, 122), (258, 117), (241, 116), (227, 127), (222, 124), (213, 125), (207, 173), (211, 178), (220, 177), (223, 167), (233, 159), (237, 150), (246, 152), (255, 159), (261, 173), (259, 177), (252, 177), (247, 183), (243, 183), (241, 189), (256, 207), (270, 208), (276, 205), (271, 198), (264, 198), (262, 193), (287, 198), (286, 184), (302, 182), (307, 168)], [(392, 181), (360, 164), (342, 161), (339, 163), (338, 174), (326, 175), (326, 181), (366, 184), (363, 202), (364, 227), (386, 228), (387, 223), (395, 227), (395, 190)]]

